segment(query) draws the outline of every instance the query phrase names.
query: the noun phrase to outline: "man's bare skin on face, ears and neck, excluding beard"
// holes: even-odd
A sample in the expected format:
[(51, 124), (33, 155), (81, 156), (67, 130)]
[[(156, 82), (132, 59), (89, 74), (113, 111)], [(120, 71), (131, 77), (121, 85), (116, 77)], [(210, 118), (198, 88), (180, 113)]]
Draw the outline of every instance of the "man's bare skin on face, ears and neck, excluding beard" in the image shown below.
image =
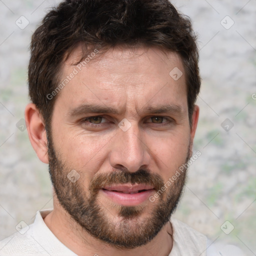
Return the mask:
[[(77, 60), (80, 53), (81, 49), (77, 46), (63, 64), (63, 78), (72, 72), (74, 66), (71, 63)], [(169, 76), (174, 67), (183, 72), (176, 81)], [(194, 138), (199, 108), (194, 107), (190, 126), (184, 73), (181, 59), (174, 52), (164, 53), (152, 47), (136, 50), (115, 47), (81, 68), (59, 92), (51, 123), (54, 148), (70, 170), (82, 170), (79, 182), (82, 182), (86, 195), (89, 181), (97, 173), (123, 168), (135, 172), (143, 167), (159, 174), (166, 182), (185, 161), (187, 148)], [(95, 102), (116, 108), (119, 113), (68, 114), (80, 104)], [(167, 103), (178, 106), (179, 111), (157, 114), (142, 111), (143, 107)], [(102, 126), (91, 127), (88, 120), (81, 122), (81, 119), (95, 115), (104, 117), (101, 124), (98, 120), (94, 121), (94, 124)], [(151, 119), (152, 116), (164, 118), (159, 121)], [(127, 131), (118, 127), (123, 118), (131, 124)], [(26, 106), (25, 120), (38, 158), (48, 163), (46, 131), (33, 103)], [(98, 193), (97, 200), (113, 224), (118, 223), (117, 207), (112, 201), (102, 192)], [(149, 200), (142, 204), (145, 210), (140, 215), (141, 221), (150, 216), (155, 206)], [(149, 243), (132, 249), (118, 249), (92, 237), (76, 224), (60, 205), (54, 191), (53, 207), (53, 211), (44, 218), (45, 224), (78, 255), (166, 256), (171, 251), (170, 222)], [(131, 228), (135, 223), (134, 219), (134, 223), (130, 223)]]

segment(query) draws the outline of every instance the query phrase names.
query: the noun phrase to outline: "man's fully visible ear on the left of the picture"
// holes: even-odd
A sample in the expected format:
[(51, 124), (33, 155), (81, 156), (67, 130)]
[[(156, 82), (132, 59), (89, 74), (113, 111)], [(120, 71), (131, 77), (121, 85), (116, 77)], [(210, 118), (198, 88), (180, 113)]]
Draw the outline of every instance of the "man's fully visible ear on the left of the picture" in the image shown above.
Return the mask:
[(44, 163), (49, 163), (45, 126), (39, 110), (33, 103), (27, 104), (25, 108), (25, 122), (30, 143), (38, 158)]

